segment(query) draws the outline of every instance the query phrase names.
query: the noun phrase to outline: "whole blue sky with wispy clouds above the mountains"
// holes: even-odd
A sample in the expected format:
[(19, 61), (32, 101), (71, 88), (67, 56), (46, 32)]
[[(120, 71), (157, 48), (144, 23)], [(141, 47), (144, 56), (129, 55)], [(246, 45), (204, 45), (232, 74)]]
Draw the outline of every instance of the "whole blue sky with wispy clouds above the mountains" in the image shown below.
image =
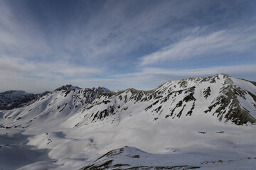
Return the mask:
[(0, 91), (256, 81), (256, 1), (0, 0)]

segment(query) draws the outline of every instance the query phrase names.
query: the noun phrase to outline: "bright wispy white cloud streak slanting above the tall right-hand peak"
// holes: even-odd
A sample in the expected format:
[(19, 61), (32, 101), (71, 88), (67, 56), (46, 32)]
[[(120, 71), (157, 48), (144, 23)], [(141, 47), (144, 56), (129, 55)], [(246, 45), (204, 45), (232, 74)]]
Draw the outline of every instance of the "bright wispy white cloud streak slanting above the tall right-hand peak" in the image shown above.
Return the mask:
[(256, 28), (220, 30), (208, 35), (188, 36), (179, 42), (141, 58), (140, 65), (159, 64), (171, 60), (209, 57), (224, 52), (245, 52), (255, 47)]

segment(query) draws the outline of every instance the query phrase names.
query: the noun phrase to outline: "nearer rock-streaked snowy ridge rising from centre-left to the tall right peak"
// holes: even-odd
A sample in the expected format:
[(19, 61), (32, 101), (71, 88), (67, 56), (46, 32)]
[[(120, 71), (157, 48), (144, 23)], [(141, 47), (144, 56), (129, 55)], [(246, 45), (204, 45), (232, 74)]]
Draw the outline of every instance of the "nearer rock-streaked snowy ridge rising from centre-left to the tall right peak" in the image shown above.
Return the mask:
[[(256, 86), (253, 87), (256, 91)], [(255, 93), (233, 84), (231, 77), (227, 74), (168, 81), (152, 91), (127, 89), (105, 97), (105, 100), (85, 107), (83, 111), (89, 115), (85, 115), (87, 123), (102, 120), (110, 115), (131, 112), (134, 106), (144, 107), (145, 112), (156, 115), (154, 120), (175, 119), (193, 114), (211, 114), (218, 117), (220, 121), (230, 120), (237, 125), (256, 121), (253, 117), (256, 113)], [(239, 97), (244, 102), (250, 103), (255, 110), (249, 111), (245, 108), (240, 103), (241, 99), (238, 100)], [(130, 108), (131, 111), (129, 111)]]

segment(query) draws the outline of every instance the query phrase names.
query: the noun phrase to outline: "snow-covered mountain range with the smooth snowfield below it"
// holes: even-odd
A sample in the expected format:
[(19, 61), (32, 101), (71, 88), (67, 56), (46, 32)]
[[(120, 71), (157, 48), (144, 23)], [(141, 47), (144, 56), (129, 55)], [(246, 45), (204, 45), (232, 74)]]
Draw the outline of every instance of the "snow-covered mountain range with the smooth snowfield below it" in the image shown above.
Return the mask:
[(255, 122), (255, 83), (227, 74), (151, 91), (66, 85), (0, 111), (0, 168), (255, 169)]

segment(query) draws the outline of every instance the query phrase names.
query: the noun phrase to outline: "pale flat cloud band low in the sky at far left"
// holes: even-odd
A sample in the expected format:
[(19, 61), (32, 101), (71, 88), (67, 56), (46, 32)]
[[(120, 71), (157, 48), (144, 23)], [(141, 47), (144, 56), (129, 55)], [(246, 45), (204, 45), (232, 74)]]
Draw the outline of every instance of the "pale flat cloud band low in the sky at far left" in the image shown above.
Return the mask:
[(28, 62), (27, 60), (15, 57), (0, 57), (0, 60), (0, 76), (9, 77), (8, 79), (33, 77), (52, 81), (52, 79), (64, 80), (65, 77), (86, 79), (98, 74), (104, 75), (103, 69), (80, 67), (68, 62)]

